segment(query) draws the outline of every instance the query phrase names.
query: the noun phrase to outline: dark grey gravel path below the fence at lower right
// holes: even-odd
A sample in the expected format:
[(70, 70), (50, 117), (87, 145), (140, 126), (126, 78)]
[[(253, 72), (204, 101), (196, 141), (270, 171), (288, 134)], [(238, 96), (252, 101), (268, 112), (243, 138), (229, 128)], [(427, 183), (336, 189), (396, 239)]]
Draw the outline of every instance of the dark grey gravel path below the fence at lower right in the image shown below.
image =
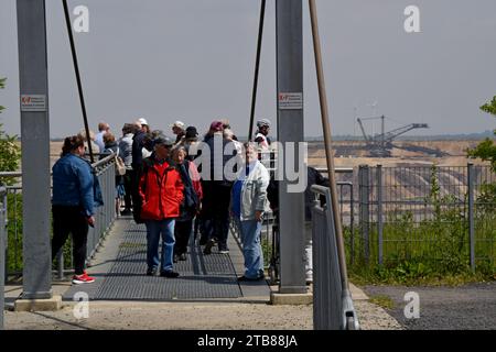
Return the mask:
[[(496, 283), (460, 287), (365, 286), (370, 297), (388, 296), (395, 302), (386, 309), (409, 330), (494, 330), (496, 329)], [(409, 292), (419, 294), (420, 318), (407, 319), (403, 300)]]

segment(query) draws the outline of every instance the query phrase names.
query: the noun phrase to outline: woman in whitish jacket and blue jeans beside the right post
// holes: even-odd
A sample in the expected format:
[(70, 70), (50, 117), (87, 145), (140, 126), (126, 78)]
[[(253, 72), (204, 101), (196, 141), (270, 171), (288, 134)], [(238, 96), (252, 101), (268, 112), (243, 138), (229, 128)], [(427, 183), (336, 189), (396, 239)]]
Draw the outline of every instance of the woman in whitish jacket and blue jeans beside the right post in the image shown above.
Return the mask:
[(233, 186), (230, 210), (241, 232), (245, 257), (245, 275), (238, 280), (258, 280), (265, 277), (260, 234), (270, 176), (258, 161), (257, 145), (246, 143), (245, 148), (245, 167)]

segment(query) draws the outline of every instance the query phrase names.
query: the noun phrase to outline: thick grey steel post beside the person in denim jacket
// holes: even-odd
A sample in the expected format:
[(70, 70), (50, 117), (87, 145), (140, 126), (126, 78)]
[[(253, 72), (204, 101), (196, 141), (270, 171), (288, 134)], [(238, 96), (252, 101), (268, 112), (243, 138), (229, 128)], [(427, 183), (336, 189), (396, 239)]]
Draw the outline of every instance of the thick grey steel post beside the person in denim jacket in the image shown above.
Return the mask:
[(44, 0), (18, 0), (21, 95), (23, 294), (51, 298), (50, 123)]

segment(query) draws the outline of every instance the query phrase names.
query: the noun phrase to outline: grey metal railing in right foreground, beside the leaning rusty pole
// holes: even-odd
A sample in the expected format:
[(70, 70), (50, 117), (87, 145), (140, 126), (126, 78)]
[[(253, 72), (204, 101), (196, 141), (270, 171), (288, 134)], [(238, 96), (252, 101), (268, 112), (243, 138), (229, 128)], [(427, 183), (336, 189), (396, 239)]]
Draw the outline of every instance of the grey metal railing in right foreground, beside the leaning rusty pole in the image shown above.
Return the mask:
[[(317, 196), (312, 208), (313, 326), (315, 330), (358, 330), (346, 277), (346, 260), (339, 257), (344, 253), (337, 250), (331, 190), (314, 185), (312, 191)], [(325, 197), (324, 206), (321, 206), (320, 196)]]

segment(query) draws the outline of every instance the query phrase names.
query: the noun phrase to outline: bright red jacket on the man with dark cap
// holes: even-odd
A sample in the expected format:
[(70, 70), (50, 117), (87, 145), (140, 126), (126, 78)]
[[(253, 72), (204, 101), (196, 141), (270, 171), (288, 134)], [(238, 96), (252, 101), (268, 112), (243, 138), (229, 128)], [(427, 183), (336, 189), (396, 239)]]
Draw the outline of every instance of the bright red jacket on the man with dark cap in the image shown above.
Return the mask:
[(177, 170), (166, 162), (162, 165), (148, 158), (140, 177), (139, 194), (142, 201), (141, 219), (163, 220), (177, 218), (183, 200), (184, 185)]

